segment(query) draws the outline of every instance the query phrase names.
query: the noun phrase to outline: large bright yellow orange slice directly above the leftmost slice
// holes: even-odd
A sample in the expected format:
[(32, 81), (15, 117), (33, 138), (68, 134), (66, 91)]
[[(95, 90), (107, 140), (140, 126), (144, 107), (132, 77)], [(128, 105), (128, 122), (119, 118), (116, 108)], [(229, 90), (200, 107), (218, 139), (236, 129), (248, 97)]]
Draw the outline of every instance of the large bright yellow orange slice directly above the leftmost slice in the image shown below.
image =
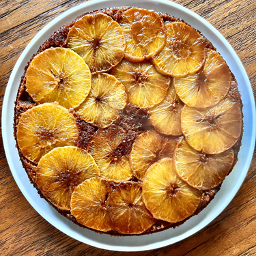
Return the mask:
[(35, 102), (79, 106), (91, 89), (85, 61), (68, 48), (49, 48), (35, 56), (26, 73), (27, 92)]

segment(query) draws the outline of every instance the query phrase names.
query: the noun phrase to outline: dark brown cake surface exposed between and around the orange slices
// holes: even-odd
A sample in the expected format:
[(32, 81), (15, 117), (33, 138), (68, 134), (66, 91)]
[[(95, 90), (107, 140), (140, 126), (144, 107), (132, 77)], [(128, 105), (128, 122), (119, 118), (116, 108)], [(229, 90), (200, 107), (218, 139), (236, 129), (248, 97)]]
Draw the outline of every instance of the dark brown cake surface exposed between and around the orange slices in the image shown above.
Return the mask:
[[(93, 12), (88, 12), (88, 13), (82, 14), (81, 16), (77, 17), (76, 19), (74, 19), (70, 23), (68, 23), (68, 25), (63, 25), (63, 27), (61, 27), (58, 31), (53, 33), (53, 35), (51, 35), (51, 37), (46, 42), (44, 42), (44, 44), (42, 44), (42, 46), (40, 46), (37, 53), (35, 53), (31, 57), (30, 61), (27, 63), (27, 66), (25, 67), (25, 72), (20, 81), (20, 86), (18, 88), (18, 94), (16, 97), (15, 108), (14, 108), (14, 137), (15, 137), (15, 139), (16, 139), (16, 131), (17, 131), (17, 125), (18, 125), (18, 120), (20, 119), (20, 115), (22, 113), (24, 113), (25, 111), (27, 111), (28, 109), (31, 109), (33, 106), (37, 105), (26, 91), (26, 78), (25, 78), (25, 74), (27, 72), (27, 68), (29, 67), (29, 63), (32, 61), (32, 59), (35, 57), (35, 55), (38, 55), (39, 53), (42, 53), (42, 51), (46, 50), (47, 48), (51, 48), (51, 47), (65, 47), (66, 48), (67, 47), (66, 46), (66, 38), (67, 38), (68, 32), (70, 31), (70, 28), (74, 25), (76, 20), (79, 20), (79, 18), (85, 16), (86, 14), (94, 14), (94, 13), (101, 12), (101, 13), (111, 16), (111, 18), (113, 18), (113, 20), (117, 21), (117, 23), (118, 23), (120, 18), (122, 17), (122, 12), (124, 12), (128, 9), (130, 9), (130, 7), (109, 8), (109, 9), (96, 10)], [(158, 14), (164, 20), (164, 22), (166, 24), (172, 23), (175, 21), (180, 21), (180, 22), (185, 23), (184, 20), (175, 18), (173, 16), (169, 16), (169, 14), (162, 14), (162, 13), (158, 13)], [(198, 32), (201, 34), (201, 31), (198, 31)], [(204, 38), (204, 36), (203, 36), (203, 38)], [(206, 48), (211, 48), (216, 51), (216, 48), (214, 48), (214, 46), (212, 45), (211, 42), (209, 42), (206, 38), (205, 38), (205, 41), (206, 41)], [(243, 105), (242, 105), (242, 101), (241, 101), (240, 91), (238, 91), (237, 82), (236, 82), (235, 76), (233, 76), (233, 74), (232, 74), (231, 87), (229, 89), (229, 95), (234, 100), (236, 100), (240, 103), (241, 112), (242, 112)], [(98, 128), (83, 121), (81, 119), (81, 117), (74, 110), (70, 109), (70, 113), (72, 113), (74, 115), (74, 117), (76, 118), (76, 124), (79, 128), (80, 136), (79, 136), (78, 141), (76, 141), (76, 145), (78, 147), (86, 149), (89, 140), (94, 136), (94, 134), (98, 130)], [(243, 114), (242, 114), (242, 117), (243, 117)], [(133, 144), (134, 140), (139, 136), (139, 134), (141, 134), (142, 132), (146, 132), (147, 130), (153, 129), (152, 124), (150, 124), (150, 119), (147, 115), (147, 111), (143, 110), (143, 109), (137, 109), (135, 107), (130, 106), (129, 104), (127, 104), (127, 106), (124, 108), (124, 110), (119, 114), (119, 118), (113, 124), (123, 128), (127, 133), (125, 142), (122, 143), (118, 149), (118, 151), (122, 152), (122, 154), (124, 154), (126, 156), (128, 156), (130, 154), (130, 151), (132, 149), (132, 144)], [(233, 145), (233, 151), (234, 151), (235, 158), (233, 161), (233, 166), (231, 167), (229, 173), (232, 171), (233, 167), (236, 165), (236, 162), (238, 161), (238, 152), (239, 152), (240, 146), (241, 146), (242, 133), (243, 133), (243, 126), (242, 126), (240, 139), (238, 140), (238, 142), (235, 145)], [(23, 154), (20, 152), (20, 149), (19, 149), (18, 143), (17, 143), (17, 139), (16, 139), (16, 147), (18, 148), (18, 154), (20, 156), (20, 160), (23, 164), (24, 169), (27, 172), (30, 182), (38, 190), (38, 194), (40, 195), (40, 197), (46, 199), (46, 197), (44, 197), (44, 195), (42, 194), (41, 190), (35, 184), (35, 172), (36, 172), (37, 166), (33, 162), (30, 162), (29, 160), (27, 160), (27, 158), (25, 158), (23, 156)], [(136, 177), (132, 177), (131, 181), (138, 182)], [(111, 186), (113, 186), (113, 189), (115, 188), (115, 184), (112, 183)], [(220, 188), (221, 188), (221, 184), (211, 190), (203, 190), (201, 202), (200, 202), (197, 210), (195, 211), (195, 213), (192, 216), (199, 214), (199, 212), (201, 212), (201, 210), (203, 210), (210, 203), (210, 201), (212, 201), (212, 199), (214, 199), (214, 196), (216, 195), (218, 190), (220, 190)], [(48, 201), (48, 200), (46, 199), (46, 201)], [(55, 208), (61, 215), (66, 216), (67, 218), (69, 218), (71, 221), (73, 221), (77, 225), (79, 225), (81, 227), (85, 227), (85, 226), (77, 223), (76, 218), (74, 218), (74, 216), (72, 216), (70, 214), (70, 211), (59, 210), (59, 208), (55, 207), (55, 205), (53, 205), (50, 201), (48, 201), (48, 203), (50, 205), (52, 205), (53, 208)], [(190, 217), (188, 217), (188, 218), (190, 218)], [(155, 233), (157, 231), (169, 229), (170, 227), (175, 228), (177, 226), (182, 225), (185, 221), (188, 220), (188, 218), (186, 218), (184, 221), (181, 221), (179, 223), (167, 223), (166, 221), (158, 220), (150, 229), (148, 229), (141, 235)], [(85, 227), (85, 228), (89, 229), (88, 227)], [(91, 229), (91, 230), (96, 231), (95, 229)], [(96, 232), (103, 233), (101, 231), (96, 231)], [(124, 234), (117, 233), (115, 231), (109, 231), (106, 233), (109, 233), (111, 236), (141, 236), (141, 235), (124, 235)]]

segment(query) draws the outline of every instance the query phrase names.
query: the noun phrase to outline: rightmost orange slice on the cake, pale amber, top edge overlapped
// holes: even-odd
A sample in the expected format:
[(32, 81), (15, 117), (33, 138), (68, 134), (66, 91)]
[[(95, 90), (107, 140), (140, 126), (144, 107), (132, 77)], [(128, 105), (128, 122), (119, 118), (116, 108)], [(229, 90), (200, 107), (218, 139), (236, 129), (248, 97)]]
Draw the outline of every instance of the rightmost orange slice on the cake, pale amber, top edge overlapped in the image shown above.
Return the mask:
[(240, 104), (227, 96), (216, 106), (182, 110), (182, 132), (188, 144), (205, 154), (228, 150), (240, 138), (242, 115)]

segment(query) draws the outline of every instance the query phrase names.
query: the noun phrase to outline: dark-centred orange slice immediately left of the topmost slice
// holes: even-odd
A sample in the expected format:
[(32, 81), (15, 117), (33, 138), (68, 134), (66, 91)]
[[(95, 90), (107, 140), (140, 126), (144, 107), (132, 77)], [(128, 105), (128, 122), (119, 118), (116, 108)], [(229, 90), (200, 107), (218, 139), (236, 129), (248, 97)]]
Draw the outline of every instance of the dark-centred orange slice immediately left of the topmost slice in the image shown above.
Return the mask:
[(67, 44), (85, 60), (92, 73), (106, 72), (117, 65), (126, 48), (119, 24), (100, 13), (77, 20), (68, 33)]

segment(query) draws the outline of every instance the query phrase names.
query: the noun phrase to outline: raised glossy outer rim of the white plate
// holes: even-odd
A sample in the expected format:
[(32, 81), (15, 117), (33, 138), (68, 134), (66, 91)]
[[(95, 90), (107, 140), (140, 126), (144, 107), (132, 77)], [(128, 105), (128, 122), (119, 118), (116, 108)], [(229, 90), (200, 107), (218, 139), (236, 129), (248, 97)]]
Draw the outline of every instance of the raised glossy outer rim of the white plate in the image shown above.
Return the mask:
[[(5, 95), (3, 98), (3, 109), (2, 109), (2, 135), (3, 135), (3, 147), (5, 150), (5, 156), (8, 160), (8, 165), (10, 167), (10, 171), (12, 172), (12, 175), (14, 177), (14, 180), (16, 182), (16, 184), (18, 185), (18, 188), (20, 188), (21, 193), (23, 193), (23, 195), (25, 196), (25, 198), (27, 199), (27, 201), (29, 201), (29, 203), (31, 204), (31, 206), (33, 207), (33, 209), (35, 209), (38, 214), (40, 214), (46, 221), (48, 221), (48, 223), (51, 223), (51, 225), (53, 225), (54, 227), (56, 227), (57, 229), (59, 229), (60, 231), (62, 231), (63, 233), (66, 233), (65, 231), (61, 230), (61, 228), (57, 227), (58, 225), (56, 225), (56, 223), (53, 223), (53, 221), (49, 220), (48, 218), (46, 218), (45, 216), (43, 216), (42, 212), (40, 209), (38, 209), (37, 205), (35, 205), (35, 203), (33, 201), (31, 201), (30, 197), (27, 195), (26, 192), (24, 192), (23, 190), (23, 184), (22, 182), (20, 182), (20, 180), (18, 179), (18, 176), (16, 175), (16, 173), (12, 170), (15, 169), (13, 162), (12, 162), (12, 158), (10, 155), (10, 145), (9, 142), (7, 141), (7, 134), (9, 132), (8, 130), (8, 126), (6, 124), (8, 124), (8, 121), (10, 121), (10, 118), (8, 118), (7, 115), (7, 110), (8, 110), (8, 99), (10, 98), (10, 95), (12, 93), (12, 85), (14, 83), (14, 76), (16, 75), (18, 68), (20, 68), (20, 64), (23, 61), (23, 59), (25, 58), (25, 56), (27, 55), (27, 53), (29, 52), (29, 49), (34, 46), (36, 44), (36, 42), (38, 42), (38, 40), (40, 40), (40, 37), (42, 35), (44, 35), (44, 33), (46, 33), (46, 31), (51, 31), (51, 27), (53, 27), (54, 25), (56, 25), (60, 20), (62, 20), (63, 18), (65, 18), (66, 16), (73, 14), (74, 12), (81, 10), (83, 8), (88, 8), (91, 5), (96, 5), (98, 3), (102, 3), (102, 5), (107, 5), (107, 3), (117, 3), (117, 6), (124, 6), (124, 5), (120, 5), (120, 2), (124, 2), (122, 0), (91, 0), (91, 1), (87, 1), (85, 3), (81, 3), (80, 5), (77, 5), (76, 7), (70, 8), (66, 11), (64, 11), (62, 14), (60, 14), (59, 16), (57, 16), (56, 18), (54, 18), (53, 20), (51, 20), (50, 23), (48, 23), (46, 26), (44, 26), (34, 37), (33, 39), (29, 42), (29, 44), (26, 46), (25, 50), (23, 51), (23, 53), (20, 55), (20, 57), (18, 58), (18, 61), (16, 61), (16, 64), (12, 70), (12, 74), (10, 75), (10, 79), (8, 81), (8, 85), (5, 89)], [(167, 0), (146, 0), (144, 2), (152, 2), (152, 3), (162, 3), (165, 5), (169, 5), (170, 7), (173, 8), (177, 8), (179, 10), (181, 10), (182, 12), (185, 12), (186, 14), (188, 14), (189, 16), (193, 16), (195, 17), (197, 20), (199, 20), (201, 23), (203, 23), (206, 27), (208, 27), (208, 29), (210, 29), (210, 31), (212, 33), (214, 33), (220, 40), (221, 42), (223, 42), (223, 44), (229, 49), (229, 51), (231, 51), (233, 57), (236, 59), (236, 63), (238, 64), (239, 68), (240, 68), (240, 72), (242, 73), (243, 78), (246, 81), (246, 86), (248, 87), (248, 93), (250, 95), (250, 99), (249, 102), (251, 102), (251, 104), (255, 106), (255, 100), (253, 97), (253, 89), (251, 87), (250, 81), (248, 79), (248, 76), (246, 74), (246, 71), (244, 69), (244, 66), (242, 65), (242, 62), (240, 61), (238, 55), (236, 54), (236, 52), (233, 50), (233, 48), (231, 47), (231, 45), (229, 44), (229, 42), (227, 42), (227, 40), (223, 37), (223, 35), (221, 35), (220, 32), (218, 32), (212, 25), (210, 25), (210, 23), (208, 23), (204, 18), (202, 18), (201, 16), (199, 16), (198, 14), (195, 14), (195, 12), (188, 10), (187, 8), (185, 8), (182, 5), (179, 5), (177, 3), (173, 3), (171, 1), (167, 1)], [(139, 6), (139, 4), (142, 3), (142, 0), (137, 1), (137, 6)], [(132, 4), (132, 6), (136, 6), (134, 4)], [(102, 7), (105, 8), (105, 7)], [(167, 10), (168, 12), (168, 10)], [(83, 14), (83, 12), (81, 12), (81, 14)], [(51, 32), (53, 33), (53, 31)], [(22, 67), (24, 70), (24, 67)], [(248, 86), (250, 85), (250, 87)], [(16, 95), (15, 91), (15, 95)], [(12, 109), (12, 111), (14, 112), (14, 110)], [(191, 232), (188, 232), (185, 234), (185, 236), (182, 236), (182, 238), (175, 242), (184, 240), (185, 238), (188, 238), (189, 236), (192, 236), (193, 234), (197, 233), (198, 231), (200, 231), (201, 229), (203, 229), (203, 227), (205, 227), (206, 225), (208, 225), (210, 222), (212, 222), (219, 214), (221, 214), (221, 212), (223, 212), (223, 210), (227, 207), (227, 205), (230, 203), (230, 201), (233, 199), (233, 197), (236, 196), (236, 193), (238, 192), (238, 190), (240, 189), (240, 186), (242, 185), (242, 182), (244, 182), (244, 178), (246, 176), (246, 173), (248, 172), (248, 168), (250, 167), (251, 164), (251, 160), (253, 158), (253, 150), (254, 150), (254, 146), (255, 146), (255, 136), (256, 136), (256, 114), (255, 114), (255, 108), (252, 108), (252, 134), (251, 134), (251, 144), (249, 147), (249, 152), (247, 154), (247, 158), (246, 158), (246, 162), (244, 165), (244, 169), (246, 169), (246, 171), (244, 171), (241, 176), (241, 179), (239, 180), (238, 183), (236, 183), (236, 188), (234, 188), (230, 193), (229, 197), (227, 197), (225, 199), (225, 201), (222, 203), (222, 208), (219, 208), (218, 210), (216, 210), (216, 214), (214, 216), (214, 218), (212, 218), (210, 221), (208, 220), (207, 222), (203, 223), (203, 225), (201, 225), (201, 227), (199, 227), (199, 229), (192, 229)], [(13, 113), (14, 115), (14, 113)], [(13, 120), (12, 120), (13, 122)], [(13, 130), (12, 130), (13, 131)], [(243, 134), (244, 137), (244, 134)], [(18, 152), (17, 152), (18, 153)], [(239, 160), (238, 160), (239, 161)], [(27, 176), (27, 174), (26, 174)], [(27, 177), (28, 178), (28, 177)], [(37, 191), (35, 191), (35, 193), (37, 193)], [(27, 196), (26, 196), (27, 195)], [(92, 231), (94, 232), (94, 231)], [(163, 232), (163, 231), (162, 231)], [(160, 248), (162, 246), (167, 246), (170, 244), (174, 244), (175, 242), (171, 242), (169, 243), (169, 240), (165, 240), (162, 242), (158, 242), (158, 243), (152, 243), (152, 244), (147, 244), (144, 246), (114, 246), (114, 245), (108, 245), (108, 244), (99, 244), (98, 242), (94, 242), (92, 240), (87, 240), (86, 242), (82, 239), (79, 238), (75, 238), (74, 236), (72, 236), (72, 234), (68, 234), (66, 233), (68, 236), (71, 236), (72, 238), (79, 240), (80, 242), (89, 244), (91, 246), (95, 246), (98, 248), (103, 248), (103, 249), (107, 249), (107, 250), (111, 250), (111, 251), (146, 251), (146, 250), (151, 250), (154, 248)], [(104, 235), (99, 235), (99, 236), (104, 236)], [(108, 236), (108, 235), (105, 235)], [(152, 236), (152, 235), (147, 235), (147, 236)], [(137, 238), (136, 236), (133, 236), (135, 238)], [(125, 250), (124, 250), (125, 247)]]

